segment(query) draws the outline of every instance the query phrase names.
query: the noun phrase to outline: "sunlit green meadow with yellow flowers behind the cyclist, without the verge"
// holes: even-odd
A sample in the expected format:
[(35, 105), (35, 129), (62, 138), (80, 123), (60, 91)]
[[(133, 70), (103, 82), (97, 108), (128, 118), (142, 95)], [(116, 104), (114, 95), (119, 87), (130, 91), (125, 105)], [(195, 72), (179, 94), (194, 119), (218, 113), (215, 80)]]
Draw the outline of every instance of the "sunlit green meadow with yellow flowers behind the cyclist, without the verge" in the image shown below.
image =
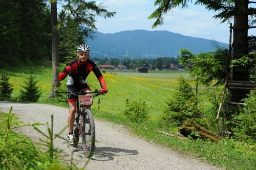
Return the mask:
[[(60, 69), (61, 70), (61, 69)], [(111, 74), (117, 72), (117, 75)], [(52, 68), (36, 66), (27, 68), (10, 69), (7, 71), (10, 83), (14, 88), (12, 99), (18, 100), (18, 95), (22, 86), (25, 85), (26, 77), (30, 72), (38, 81), (37, 85), (41, 89), (41, 98), (38, 102), (55, 104), (48, 99), (51, 90)], [(125, 106), (126, 100), (143, 101), (150, 107), (151, 117), (161, 114), (166, 106), (166, 100), (171, 97), (174, 88), (177, 86), (177, 78), (180, 76), (189, 78), (187, 70), (150, 70), (148, 73), (139, 73), (137, 70), (107, 70), (102, 73), (109, 92), (100, 96), (100, 108), (105, 111), (119, 114)], [(67, 79), (61, 81), (61, 88), (66, 89)], [(88, 84), (93, 89), (100, 89), (100, 85), (93, 72), (88, 77)], [(65, 95), (63, 94), (63, 98)], [(96, 99), (97, 100), (97, 99)], [(98, 102), (93, 105), (98, 107)], [(65, 106), (65, 104), (61, 104)], [(66, 104), (66, 106), (68, 106)]]

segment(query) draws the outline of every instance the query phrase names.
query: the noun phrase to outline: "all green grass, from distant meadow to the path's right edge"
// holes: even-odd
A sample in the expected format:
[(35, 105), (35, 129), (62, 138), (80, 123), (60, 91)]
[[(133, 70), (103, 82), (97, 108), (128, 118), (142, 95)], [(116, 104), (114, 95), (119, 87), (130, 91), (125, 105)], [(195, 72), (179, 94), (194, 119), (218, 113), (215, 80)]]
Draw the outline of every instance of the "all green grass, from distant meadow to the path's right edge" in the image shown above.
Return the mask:
[[(42, 92), (38, 102), (68, 108), (67, 102), (60, 103), (49, 99), (52, 86), (51, 67), (18, 67), (1, 70), (1, 72), (3, 71), (8, 74), (10, 83), (14, 88), (12, 93), (13, 101), (18, 101), (19, 91), (22, 89), (26, 77), (29, 77), (32, 72)], [(117, 72), (117, 75), (113, 75), (111, 72)], [(139, 73), (137, 70), (106, 70), (103, 76), (109, 92), (94, 99), (92, 110), (95, 117), (122, 124), (128, 127), (131, 133), (140, 136), (144, 140), (170, 147), (178, 152), (194, 158), (200, 158), (202, 161), (207, 161), (216, 166), (226, 169), (256, 169), (255, 145), (240, 143), (228, 138), (219, 143), (191, 139), (184, 140), (159, 132), (164, 130), (173, 134), (178, 132), (178, 127), (165, 129), (157, 123), (157, 120), (167, 106), (166, 101), (175, 97), (173, 94), (178, 86), (177, 79), (180, 76), (188, 80), (194, 90), (196, 89), (196, 84), (193, 78), (189, 77), (187, 70), (150, 70), (148, 73)], [(95, 88), (100, 89), (99, 82), (93, 72), (88, 77), (88, 84), (92, 90)], [(61, 91), (66, 89), (66, 79), (61, 82), (60, 89)], [(220, 94), (220, 91), (217, 91), (217, 93)], [(213, 98), (211, 89), (199, 86), (200, 102), (205, 105), (209, 104), (210, 95)], [(66, 98), (65, 94), (63, 94), (64, 98)], [(98, 104), (99, 99), (100, 104)], [(150, 118), (141, 124), (131, 123), (125, 119), (123, 111), (126, 100), (145, 102)]]

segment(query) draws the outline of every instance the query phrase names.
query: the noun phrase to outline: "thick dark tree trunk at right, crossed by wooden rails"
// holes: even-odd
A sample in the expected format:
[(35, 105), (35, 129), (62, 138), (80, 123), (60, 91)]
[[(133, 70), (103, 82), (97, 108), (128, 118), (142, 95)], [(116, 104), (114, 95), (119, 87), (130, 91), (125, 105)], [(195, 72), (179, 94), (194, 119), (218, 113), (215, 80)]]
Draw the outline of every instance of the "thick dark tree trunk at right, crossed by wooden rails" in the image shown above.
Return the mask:
[[(248, 1), (238, 0), (235, 3), (234, 29), (233, 29), (233, 56), (241, 58), (248, 54)], [(241, 71), (242, 70), (242, 71)], [(233, 67), (233, 80), (249, 81), (248, 68)], [(249, 94), (249, 90), (232, 89), (230, 99), (232, 102), (241, 102)]]

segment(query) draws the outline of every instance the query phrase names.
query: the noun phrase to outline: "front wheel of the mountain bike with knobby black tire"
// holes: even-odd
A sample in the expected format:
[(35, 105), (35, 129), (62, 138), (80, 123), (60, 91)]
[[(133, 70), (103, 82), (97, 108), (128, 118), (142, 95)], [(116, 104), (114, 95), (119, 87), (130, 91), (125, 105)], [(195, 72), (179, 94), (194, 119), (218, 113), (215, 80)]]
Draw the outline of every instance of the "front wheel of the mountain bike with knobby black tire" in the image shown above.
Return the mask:
[(82, 119), (82, 148), (87, 158), (91, 158), (95, 149), (95, 125), (92, 111), (83, 109)]

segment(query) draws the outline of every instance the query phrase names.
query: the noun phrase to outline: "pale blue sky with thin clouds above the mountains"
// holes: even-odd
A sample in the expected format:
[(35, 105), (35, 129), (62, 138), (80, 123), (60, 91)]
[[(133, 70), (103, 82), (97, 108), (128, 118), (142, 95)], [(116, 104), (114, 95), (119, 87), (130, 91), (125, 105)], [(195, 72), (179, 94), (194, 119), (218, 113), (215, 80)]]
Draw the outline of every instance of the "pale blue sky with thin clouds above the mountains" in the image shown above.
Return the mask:
[[(189, 4), (188, 8), (178, 7), (165, 14), (163, 25), (152, 28), (155, 19), (147, 19), (157, 8), (155, 0), (101, 0), (109, 12), (116, 12), (112, 18), (96, 17), (96, 28), (101, 33), (116, 33), (127, 30), (165, 30), (197, 38), (205, 38), (228, 43), (230, 23), (220, 23), (212, 18), (216, 12), (208, 11), (205, 6)], [(232, 20), (233, 23), (233, 20)], [(250, 31), (252, 30), (252, 31)], [(249, 35), (256, 30), (250, 29)]]

